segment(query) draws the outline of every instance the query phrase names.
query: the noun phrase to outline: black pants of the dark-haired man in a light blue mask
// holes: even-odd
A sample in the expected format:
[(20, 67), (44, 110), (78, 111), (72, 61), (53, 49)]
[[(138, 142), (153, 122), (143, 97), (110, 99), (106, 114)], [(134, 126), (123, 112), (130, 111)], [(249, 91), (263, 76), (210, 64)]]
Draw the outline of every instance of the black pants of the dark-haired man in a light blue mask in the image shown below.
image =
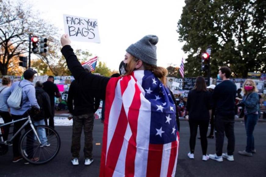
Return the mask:
[[(234, 134), (234, 117), (230, 118), (232, 121), (228, 121), (228, 117), (215, 115), (215, 138), (216, 138), (216, 155), (221, 156), (223, 152), (224, 138), (228, 139), (227, 154), (233, 155), (235, 151), (235, 134)], [(227, 120), (227, 121), (225, 121)]]

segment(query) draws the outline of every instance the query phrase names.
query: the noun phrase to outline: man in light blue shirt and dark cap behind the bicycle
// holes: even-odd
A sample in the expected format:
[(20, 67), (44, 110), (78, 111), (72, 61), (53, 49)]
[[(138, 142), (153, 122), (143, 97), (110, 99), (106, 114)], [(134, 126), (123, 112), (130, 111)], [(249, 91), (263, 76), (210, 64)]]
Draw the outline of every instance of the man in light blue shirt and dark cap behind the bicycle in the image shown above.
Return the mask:
[[(31, 109), (31, 107), (36, 107), (37, 109), (40, 109), (36, 96), (35, 96), (35, 88), (33, 85), (33, 79), (34, 79), (34, 74), (37, 72), (35, 70), (27, 69), (23, 73), (24, 79), (22, 81), (17, 81), (15, 82), (5, 93), (4, 95), (4, 102), (7, 104), (7, 99), (11, 95), (11, 93), (14, 91), (14, 89), (19, 86), (22, 88), (22, 102), (21, 102), (21, 108), (20, 109), (15, 109), (15, 108), (10, 108), (10, 113), (12, 115), (12, 118), (14, 121), (27, 117), (28, 113), (27, 110)], [(9, 107), (9, 105), (7, 104)], [(14, 123), (14, 130), (13, 132), (16, 133), (22, 125), (26, 122), (25, 121), (19, 121)], [(30, 125), (28, 124), (25, 126), (25, 130), (28, 130), (30, 128)], [(20, 133), (16, 135), (16, 137), (13, 139), (13, 162), (18, 162), (22, 159), (19, 151), (19, 141), (20, 141)], [(38, 157), (32, 157), (33, 161), (38, 161)]]

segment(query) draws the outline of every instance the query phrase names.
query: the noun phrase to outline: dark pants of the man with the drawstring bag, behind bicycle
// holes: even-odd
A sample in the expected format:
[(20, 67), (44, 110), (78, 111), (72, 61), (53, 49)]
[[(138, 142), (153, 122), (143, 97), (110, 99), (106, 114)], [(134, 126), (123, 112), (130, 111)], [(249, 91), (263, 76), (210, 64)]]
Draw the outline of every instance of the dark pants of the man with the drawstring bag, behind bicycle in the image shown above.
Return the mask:
[[(27, 113), (25, 113), (23, 115), (13, 115), (12, 114), (12, 118), (13, 118), (14, 121), (19, 120), (19, 119), (24, 118), (24, 117), (27, 117), (27, 116), (28, 116)], [(19, 122), (14, 123), (14, 130), (13, 130), (14, 134), (22, 127), (22, 125), (26, 121), (27, 120), (19, 121)], [(27, 131), (30, 128), (31, 128), (30, 124), (27, 124), (24, 129), (25, 129), (25, 131)], [(19, 150), (20, 135), (21, 135), (21, 132), (19, 132), (16, 135), (16, 137), (13, 139), (13, 156), (14, 157), (20, 156), (20, 150)], [(32, 139), (32, 137), (31, 137), (31, 139)], [(32, 142), (29, 142), (29, 140), (27, 139), (27, 145), (30, 144), (30, 143), (32, 144)], [(27, 146), (27, 147), (30, 147), (30, 146)], [(32, 151), (32, 150), (31, 149), (27, 149), (27, 151)], [(31, 153), (28, 153), (28, 154), (31, 154)]]

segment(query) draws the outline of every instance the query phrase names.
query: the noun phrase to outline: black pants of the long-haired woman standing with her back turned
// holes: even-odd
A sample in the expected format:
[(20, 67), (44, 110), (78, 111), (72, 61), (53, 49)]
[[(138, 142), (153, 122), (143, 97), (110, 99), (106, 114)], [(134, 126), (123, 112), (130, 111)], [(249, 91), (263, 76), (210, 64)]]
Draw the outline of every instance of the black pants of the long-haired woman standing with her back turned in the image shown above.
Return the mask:
[(209, 120), (191, 120), (191, 119), (189, 120), (190, 152), (194, 153), (194, 150), (195, 150), (198, 126), (199, 126), (199, 134), (200, 134), (200, 143), (201, 143), (202, 154), (206, 155), (207, 147), (208, 147), (207, 132), (208, 132)]

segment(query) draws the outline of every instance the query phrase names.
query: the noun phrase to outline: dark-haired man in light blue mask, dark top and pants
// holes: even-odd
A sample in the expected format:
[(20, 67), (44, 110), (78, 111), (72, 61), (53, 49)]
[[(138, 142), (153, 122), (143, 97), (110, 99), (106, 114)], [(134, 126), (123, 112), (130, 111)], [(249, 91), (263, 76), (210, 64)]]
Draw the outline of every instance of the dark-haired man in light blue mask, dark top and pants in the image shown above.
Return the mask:
[[(216, 85), (213, 92), (216, 154), (209, 154), (209, 157), (218, 162), (222, 162), (223, 158), (228, 161), (234, 161), (236, 85), (229, 79), (231, 73), (231, 69), (227, 66), (223, 66), (219, 69), (217, 77), (221, 79), (222, 82)], [(227, 153), (222, 153), (225, 135), (228, 139)]]

